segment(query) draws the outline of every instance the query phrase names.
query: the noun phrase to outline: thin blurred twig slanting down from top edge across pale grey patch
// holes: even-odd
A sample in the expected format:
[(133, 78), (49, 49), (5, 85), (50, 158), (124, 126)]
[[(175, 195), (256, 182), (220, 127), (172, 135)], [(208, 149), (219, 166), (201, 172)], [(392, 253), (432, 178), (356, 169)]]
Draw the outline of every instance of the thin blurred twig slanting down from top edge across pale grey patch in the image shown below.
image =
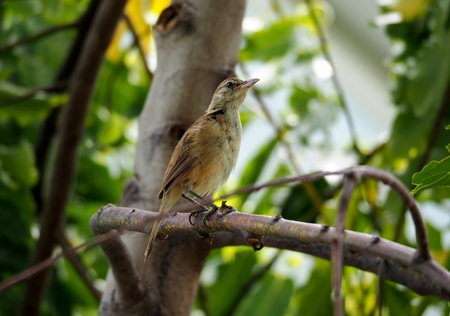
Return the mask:
[(345, 119), (347, 120), (347, 125), (349, 127), (350, 137), (352, 137), (352, 145), (354, 148), (354, 151), (358, 154), (358, 156), (362, 156), (361, 150), (358, 146), (358, 140), (356, 137), (356, 129), (354, 127), (354, 122), (352, 119), (352, 115), (350, 114), (349, 106), (347, 102), (345, 101), (344, 96), (344, 89), (342, 88), (342, 85), (340, 84), (340, 81), (338, 80), (338, 74), (335, 67), (335, 64), (333, 63), (333, 58), (331, 58), (329, 49), (328, 49), (328, 43), (325, 37), (325, 33), (322, 30), (322, 27), (319, 23), (319, 19), (316, 17), (316, 14), (314, 13), (314, 8), (311, 4), (311, 0), (306, 0), (306, 4), (308, 6), (309, 15), (311, 16), (312, 23), (314, 24), (314, 27), (316, 28), (317, 35), (319, 36), (320, 40), (320, 46), (321, 51), (323, 53), (323, 56), (325, 57), (326, 61), (330, 64), (330, 67), (333, 69), (333, 75), (331, 77), (331, 80), (333, 80), (333, 84), (335, 86), (336, 91), (338, 92), (338, 100), (340, 103), (340, 106), (342, 107), (342, 110), (344, 111)]

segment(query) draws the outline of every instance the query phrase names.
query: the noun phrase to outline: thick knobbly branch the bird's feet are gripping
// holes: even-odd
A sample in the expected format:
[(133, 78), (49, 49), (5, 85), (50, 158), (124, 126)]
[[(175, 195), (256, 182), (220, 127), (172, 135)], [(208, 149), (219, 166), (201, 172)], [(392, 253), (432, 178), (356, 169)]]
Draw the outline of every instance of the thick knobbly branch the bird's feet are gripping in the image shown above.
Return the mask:
[[(181, 210), (183, 207), (178, 208)], [(233, 212), (223, 217), (213, 215), (205, 225), (203, 217), (195, 218), (195, 227), (189, 223), (188, 214), (176, 213), (166, 217), (160, 228), (160, 235), (198, 235), (213, 232), (233, 232), (234, 236), (218, 234), (213, 246), (245, 244), (245, 238), (253, 234), (264, 236), (264, 244), (276, 248), (302, 251), (321, 258), (330, 258), (330, 245), (335, 229), (323, 225), (277, 219), (264, 215)], [(131, 208), (108, 206), (91, 218), (95, 230), (126, 229), (149, 234), (156, 213)], [(240, 235), (240, 236), (239, 236)], [(168, 242), (165, 241), (165, 242)], [(159, 243), (158, 243), (159, 244)], [(163, 242), (161, 242), (163, 244)], [(434, 294), (450, 298), (450, 274), (433, 260), (417, 263), (413, 248), (380, 239), (376, 236), (345, 231), (344, 263), (361, 270), (377, 273), (380, 258), (386, 260), (385, 278), (421, 295)]]

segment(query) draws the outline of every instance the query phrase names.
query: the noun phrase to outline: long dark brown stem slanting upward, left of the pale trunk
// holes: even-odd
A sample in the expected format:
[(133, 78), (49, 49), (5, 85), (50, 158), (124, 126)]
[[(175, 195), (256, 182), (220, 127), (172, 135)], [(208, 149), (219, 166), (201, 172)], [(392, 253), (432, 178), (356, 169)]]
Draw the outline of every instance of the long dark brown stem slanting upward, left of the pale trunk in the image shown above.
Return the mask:
[[(72, 188), (78, 143), (91, 93), (103, 55), (113, 36), (114, 26), (122, 16), (126, 2), (126, 0), (103, 1), (82, 49), (82, 56), (75, 67), (70, 82), (70, 99), (63, 111), (61, 124), (64, 128), (61, 129), (56, 150), (49, 199), (44, 206), (40, 235), (34, 249), (32, 263), (39, 263), (49, 258), (53, 251), (56, 233), (63, 222), (65, 206)], [(39, 315), (39, 305), (48, 272), (49, 270), (44, 270), (34, 275), (27, 283), (20, 315)]]

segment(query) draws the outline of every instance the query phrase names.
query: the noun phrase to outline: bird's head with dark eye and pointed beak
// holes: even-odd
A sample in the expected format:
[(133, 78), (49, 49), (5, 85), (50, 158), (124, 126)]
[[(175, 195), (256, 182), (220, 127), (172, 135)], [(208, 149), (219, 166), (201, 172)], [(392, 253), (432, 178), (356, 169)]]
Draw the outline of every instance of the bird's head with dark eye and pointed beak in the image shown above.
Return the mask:
[(248, 89), (258, 81), (259, 79), (245, 81), (238, 78), (227, 78), (219, 84), (214, 92), (207, 113), (228, 108), (239, 108), (247, 95)]

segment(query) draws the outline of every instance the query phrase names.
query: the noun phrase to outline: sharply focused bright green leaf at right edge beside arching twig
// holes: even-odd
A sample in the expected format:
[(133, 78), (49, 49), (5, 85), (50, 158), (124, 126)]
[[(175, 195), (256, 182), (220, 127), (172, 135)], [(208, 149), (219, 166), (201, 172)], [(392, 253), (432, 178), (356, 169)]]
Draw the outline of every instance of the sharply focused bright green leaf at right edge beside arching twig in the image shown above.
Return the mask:
[(450, 156), (440, 161), (432, 160), (425, 165), (413, 175), (412, 184), (416, 184), (416, 187), (411, 194), (435, 187), (450, 187)]

